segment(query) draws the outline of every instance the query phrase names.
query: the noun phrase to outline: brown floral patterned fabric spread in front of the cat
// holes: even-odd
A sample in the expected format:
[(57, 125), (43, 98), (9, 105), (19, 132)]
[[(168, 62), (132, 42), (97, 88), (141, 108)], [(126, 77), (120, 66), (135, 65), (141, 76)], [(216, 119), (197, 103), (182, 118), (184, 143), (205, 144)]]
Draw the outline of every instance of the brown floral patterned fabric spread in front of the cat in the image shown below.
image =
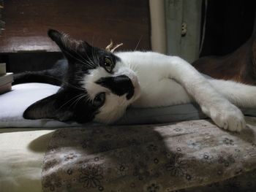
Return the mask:
[(61, 128), (45, 154), (42, 187), (158, 192), (204, 185), (199, 188), (207, 191), (256, 168), (256, 118), (246, 122), (241, 133), (217, 128), (210, 120)]

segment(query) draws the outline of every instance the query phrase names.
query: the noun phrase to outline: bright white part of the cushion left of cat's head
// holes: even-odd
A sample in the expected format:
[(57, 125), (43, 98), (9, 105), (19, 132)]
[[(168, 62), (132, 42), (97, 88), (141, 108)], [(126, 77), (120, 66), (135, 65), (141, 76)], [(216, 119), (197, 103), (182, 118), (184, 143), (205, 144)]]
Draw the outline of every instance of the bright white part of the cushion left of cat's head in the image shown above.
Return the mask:
[(59, 87), (43, 83), (26, 83), (12, 86), (12, 91), (0, 95), (0, 127), (64, 127), (78, 123), (63, 123), (58, 120), (27, 120), (23, 112), (35, 101), (50, 96)]

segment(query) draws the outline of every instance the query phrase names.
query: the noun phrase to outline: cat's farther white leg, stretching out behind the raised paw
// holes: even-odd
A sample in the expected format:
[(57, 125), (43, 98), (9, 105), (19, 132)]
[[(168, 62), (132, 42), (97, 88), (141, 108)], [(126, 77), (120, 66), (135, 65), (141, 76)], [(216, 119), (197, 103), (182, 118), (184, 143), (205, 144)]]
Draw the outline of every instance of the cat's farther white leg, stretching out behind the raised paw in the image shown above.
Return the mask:
[(238, 107), (256, 107), (256, 87), (231, 80), (208, 80), (210, 84)]

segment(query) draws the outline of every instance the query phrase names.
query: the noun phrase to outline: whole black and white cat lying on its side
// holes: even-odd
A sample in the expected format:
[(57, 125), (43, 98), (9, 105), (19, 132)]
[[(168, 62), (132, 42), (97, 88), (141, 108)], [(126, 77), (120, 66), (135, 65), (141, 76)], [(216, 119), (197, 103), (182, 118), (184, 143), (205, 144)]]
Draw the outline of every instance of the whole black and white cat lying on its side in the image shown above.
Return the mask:
[(246, 123), (238, 107), (256, 107), (255, 87), (206, 80), (176, 56), (111, 53), (59, 31), (49, 30), (48, 35), (67, 60), (59, 61), (53, 69), (17, 74), (15, 82), (48, 82), (61, 88), (32, 104), (24, 118), (113, 123), (128, 106), (161, 107), (196, 101), (217, 126), (241, 131)]

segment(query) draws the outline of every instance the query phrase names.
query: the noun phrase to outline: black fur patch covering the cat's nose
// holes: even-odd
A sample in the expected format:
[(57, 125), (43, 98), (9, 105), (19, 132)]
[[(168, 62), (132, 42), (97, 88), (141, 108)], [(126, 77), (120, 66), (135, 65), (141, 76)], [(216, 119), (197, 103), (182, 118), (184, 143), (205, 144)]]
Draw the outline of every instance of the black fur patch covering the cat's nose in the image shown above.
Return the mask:
[(118, 75), (116, 77), (102, 77), (96, 82), (105, 88), (109, 88), (114, 94), (123, 96), (127, 94), (127, 100), (131, 99), (134, 95), (134, 86), (132, 80), (127, 75)]

